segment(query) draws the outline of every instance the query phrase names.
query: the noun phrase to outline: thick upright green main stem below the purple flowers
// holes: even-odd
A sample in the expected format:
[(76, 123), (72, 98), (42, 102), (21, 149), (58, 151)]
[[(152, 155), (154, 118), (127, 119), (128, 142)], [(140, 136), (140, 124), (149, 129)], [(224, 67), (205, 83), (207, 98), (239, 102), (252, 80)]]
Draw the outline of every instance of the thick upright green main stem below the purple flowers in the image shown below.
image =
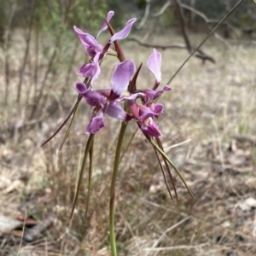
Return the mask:
[(117, 143), (117, 147), (115, 150), (114, 156), (114, 164), (113, 164), (113, 172), (112, 172), (112, 180), (110, 187), (110, 201), (109, 201), (109, 233), (110, 233), (110, 246), (111, 246), (111, 255), (117, 256), (116, 253), (116, 242), (115, 242), (115, 234), (114, 234), (114, 194), (115, 194), (115, 181), (117, 177), (117, 172), (119, 169), (119, 158), (121, 153), (121, 147), (123, 143), (123, 139), (125, 136), (125, 130), (128, 123), (123, 122), (120, 132), (119, 132), (119, 140)]

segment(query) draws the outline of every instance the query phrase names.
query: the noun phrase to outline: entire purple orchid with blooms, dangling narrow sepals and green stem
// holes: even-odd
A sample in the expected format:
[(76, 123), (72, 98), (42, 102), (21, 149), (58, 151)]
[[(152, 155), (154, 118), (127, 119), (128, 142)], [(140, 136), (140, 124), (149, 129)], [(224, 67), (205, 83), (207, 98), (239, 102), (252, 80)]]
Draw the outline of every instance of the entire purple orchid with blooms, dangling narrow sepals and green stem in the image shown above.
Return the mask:
[[(129, 124), (129, 121), (135, 120), (139, 129), (143, 132), (143, 135), (148, 139), (148, 142), (154, 148), (154, 153), (160, 164), (161, 172), (163, 173), (166, 188), (169, 195), (172, 198), (171, 189), (167, 179), (171, 179), (174, 193), (177, 199), (177, 191), (172, 178), (172, 173), (170, 171), (170, 166), (177, 172), (177, 175), (182, 179), (184, 185), (188, 189), (190, 195), (192, 195), (189, 187), (185, 183), (181, 172), (177, 170), (177, 167), (173, 165), (172, 160), (164, 152), (164, 148), (160, 142), (160, 137), (162, 136), (158, 125), (155, 123), (157, 119), (164, 110), (164, 105), (157, 103), (158, 98), (166, 91), (172, 90), (171, 87), (165, 85), (161, 90), (158, 90), (161, 82), (161, 55), (157, 49), (153, 49), (152, 54), (148, 57), (148, 69), (154, 74), (155, 81), (152, 83), (151, 89), (139, 90), (137, 89), (137, 76), (140, 72), (142, 64), (136, 68), (135, 64), (131, 60), (125, 60), (125, 55), (123, 50), (119, 45), (119, 40), (125, 39), (131, 32), (131, 26), (137, 20), (135, 18), (128, 20), (122, 30), (119, 32), (113, 32), (112, 26), (109, 21), (113, 17), (113, 11), (108, 12), (108, 16), (104, 21), (100, 31), (97, 33), (96, 37), (90, 35), (89, 33), (83, 32), (77, 26), (74, 26), (74, 31), (79, 36), (81, 43), (84, 45), (85, 52), (91, 57), (88, 63), (85, 63), (79, 68), (79, 75), (84, 77), (84, 82), (78, 82), (75, 84), (75, 89), (79, 93), (78, 100), (73, 107), (72, 111), (67, 116), (67, 119), (63, 122), (61, 127), (55, 132), (52, 137), (61, 131), (61, 128), (66, 125), (68, 119), (72, 116), (72, 121), (67, 130), (66, 136), (64, 137), (61, 146), (67, 139), (67, 136), (71, 130), (73, 120), (75, 119), (79, 103), (81, 99), (87, 105), (93, 107), (89, 125), (87, 125), (86, 133), (90, 136), (87, 140), (84, 159), (81, 166), (81, 171), (79, 174), (79, 181), (76, 188), (76, 193), (73, 201), (73, 208), (71, 212), (71, 218), (73, 216), (74, 207), (78, 201), (79, 188), (83, 178), (84, 168), (86, 166), (86, 161), (89, 156), (90, 166), (89, 166), (89, 183), (88, 183), (88, 195), (87, 204), (85, 209), (85, 219), (88, 211), (88, 205), (90, 201), (90, 188), (91, 188), (91, 177), (92, 177), (92, 161), (93, 161), (93, 143), (94, 137), (98, 131), (100, 131), (105, 126), (104, 115), (119, 119), (122, 121), (121, 129), (119, 132), (119, 139), (115, 149), (115, 158), (113, 163), (112, 181), (110, 185), (110, 201), (109, 201), (109, 234), (110, 234), (110, 244), (112, 255), (116, 254), (115, 236), (114, 236), (114, 195), (115, 195), (115, 181), (117, 177), (117, 172), (119, 169), (120, 151), (125, 136), (125, 129)], [(109, 30), (111, 37), (109, 38), (107, 44), (102, 46), (97, 42), (97, 38), (101, 32)], [(114, 44), (114, 49), (111, 49), (111, 45)], [(106, 55), (112, 55), (119, 60), (114, 68), (112, 78), (109, 82), (111, 84), (110, 88), (96, 90), (95, 84), (96, 79), (101, 74), (101, 64)], [(108, 83), (107, 83), (108, 84)], [(123, 107), (122, 107), (123, 106)], [(45, 142), (49, 142), (49, 139)], [(44, 144), (45, 144), (44, 143)], [(43, 145), (44, 145), (43, 144)], [(161, 159), (160, 159), (161, 158)], [(162, 161), (161, 161), (162, 160)], [(164, 164), (162, 164), (162, 162)], [(165, 171), (166, 169), (166, 171)], [(167, 173), (167, 174), (166, 174)], [(168, 176), (168, 177), (167, 177)], [(192, 195), (193, 196), (193, 195)]]

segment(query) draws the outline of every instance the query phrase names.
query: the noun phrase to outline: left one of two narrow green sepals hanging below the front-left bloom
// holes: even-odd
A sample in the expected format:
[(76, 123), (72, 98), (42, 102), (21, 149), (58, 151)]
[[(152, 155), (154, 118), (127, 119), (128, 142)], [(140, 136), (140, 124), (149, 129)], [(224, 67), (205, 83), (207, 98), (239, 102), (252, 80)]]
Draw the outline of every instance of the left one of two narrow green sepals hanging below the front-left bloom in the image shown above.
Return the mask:
[(80, 173), (79, 173), (79, 181), (78, 181), (77, 189), (75, 191), (73, 206), (72, 206), (72, 209), (71, 209), (69, 220), (71, 220), (73, 218), (73, 211), (74, 211), (74, 208), (75, 208), (75, 206), (77, 204), (77, 201), (78, 201), (78, 198), (79, 198), (79, 189), (81, 187), (87, 157), (88, 157), (88, 154), (90, 152), (90, 148), (91, 148), (91, 145), (93, 143), (93, 140), (94, 140), (94, 134), (90, 134), (90, 137), (88, 138), (88, 141), (86, 143), (85, 150), (84, 150), (84, 159), (83, 159), (83, 163), (82, 163), (81, 170), (80, 170)]

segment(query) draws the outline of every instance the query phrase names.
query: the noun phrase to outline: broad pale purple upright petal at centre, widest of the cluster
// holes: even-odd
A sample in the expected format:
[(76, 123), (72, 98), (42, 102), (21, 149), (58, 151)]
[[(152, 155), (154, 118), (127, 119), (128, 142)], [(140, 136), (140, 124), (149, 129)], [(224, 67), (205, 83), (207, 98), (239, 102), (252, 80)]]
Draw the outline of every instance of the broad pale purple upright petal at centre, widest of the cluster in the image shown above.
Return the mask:
[(116, 97), (122, 95), (127, 89), (132, 75), (135, 73), (135, 65), (132, 61), (124, 61), (115, 67), (111, 79), (111, 90)]

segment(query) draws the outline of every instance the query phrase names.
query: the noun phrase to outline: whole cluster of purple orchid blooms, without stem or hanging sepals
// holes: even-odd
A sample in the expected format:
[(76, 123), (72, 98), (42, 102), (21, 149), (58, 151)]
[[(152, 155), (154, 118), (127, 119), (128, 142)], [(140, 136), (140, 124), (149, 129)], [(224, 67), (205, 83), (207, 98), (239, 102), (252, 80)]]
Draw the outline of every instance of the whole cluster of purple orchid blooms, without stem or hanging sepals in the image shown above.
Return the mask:
[[(113, 11), (110, 11), (96, 37), (74, 26), (74, 30), (77, 32), (80, 41), (84, 45), (86, 53), (91, 57), (89, 63), (85, 63), (80, 67), (78, 72), (79, 75), (85, 78), (84, 81), (86, 82), (77, 83), (75, 85), (76, 90), (84, 97), (84, 101), (94, 107), (86, 132), (95, 134), (97, 131), (100, 131), (102, 127), (105, 126), (104, 114), (106, 113), (120, 121), (135, 119), (137, 125), (145, 135), (160, 137), (161, 133), (159, 127), (154, 122), (154, 119), (158, 118), (160, 114), (163, 113), (164, 106), (155, 101), (163, 92), (172, 89), (166, 85), (162, 90), (157, 90), (161, 82), (161, 55), (159, 51), (154, 49), (153, 53), (148, 58), (148, 68), (154, 73), (155, 77), (152, 89), (130, 89), (127, 91), (131, 80), (137, 79), (136, 66), (131, 60), (124, 60), (116, 65), (111, 79), (110, 89), (94, 90), (92, 87), (94, 81), (101, 73), (100, 65), (102, 59), (105, 55), (113, 55), (113, 49), (110, 49), (111, 44), (117, 40), (126, 38), (131, 31), (132, 24), (136, 21), (136, 19), (128, 20), (124, 28), (119, 32), (113, 33), (107, 44), (102, 46), (97, 42), (97, 38), (101, 32), (105, 31), (108, 26), (110, 26), (108, 22), (112, 17)], [(118, 54), (119, 53), (116, 51), (115, 55), (118, 56)], [(138, 103), (139, 100), (140, 103)], [(126, 109), (127, 112), (121, 107), (121, 102), (126, 102), (126, 106), (128, 107)]]

